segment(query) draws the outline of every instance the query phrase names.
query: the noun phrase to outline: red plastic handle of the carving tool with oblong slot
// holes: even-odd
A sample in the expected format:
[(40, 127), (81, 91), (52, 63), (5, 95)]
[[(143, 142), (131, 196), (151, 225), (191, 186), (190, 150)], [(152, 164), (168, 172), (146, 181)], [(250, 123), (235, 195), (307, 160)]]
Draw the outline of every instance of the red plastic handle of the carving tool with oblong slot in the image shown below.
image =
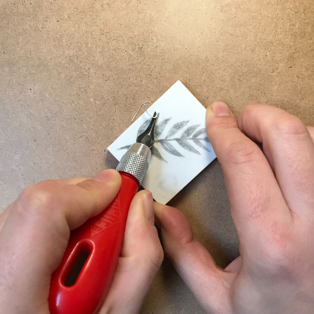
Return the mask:
[[(98, 216), (71, 232), (61, 264), (51, 276), (51, 314), (92, 314), (110, 287), (123, 242), (130, 203), (138, 181), (120, 173), (122, 185), (113, 202)], [(87, 259), (86, 259), (87, 257)], [(70, 282), (78, 260), (84, 260), (76, 281)], [(79, 270), (78, 270), (79, 271)]]

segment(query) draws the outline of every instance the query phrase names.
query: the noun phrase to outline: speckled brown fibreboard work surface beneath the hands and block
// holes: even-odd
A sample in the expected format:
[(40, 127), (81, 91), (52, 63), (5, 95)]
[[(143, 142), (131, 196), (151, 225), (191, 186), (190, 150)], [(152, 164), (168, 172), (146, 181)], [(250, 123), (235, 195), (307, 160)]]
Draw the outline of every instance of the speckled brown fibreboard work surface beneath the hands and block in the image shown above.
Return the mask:
[[(313, 1), (0, 0), (0, 208), (29, 184), (115, 167), (104, 149), (176, 80), (204, 105), (313, 123)], [(172, 201), (224, 267), (238, 254), (217, 160)], [(142, 313), (201, 313), (165, 260)]]

